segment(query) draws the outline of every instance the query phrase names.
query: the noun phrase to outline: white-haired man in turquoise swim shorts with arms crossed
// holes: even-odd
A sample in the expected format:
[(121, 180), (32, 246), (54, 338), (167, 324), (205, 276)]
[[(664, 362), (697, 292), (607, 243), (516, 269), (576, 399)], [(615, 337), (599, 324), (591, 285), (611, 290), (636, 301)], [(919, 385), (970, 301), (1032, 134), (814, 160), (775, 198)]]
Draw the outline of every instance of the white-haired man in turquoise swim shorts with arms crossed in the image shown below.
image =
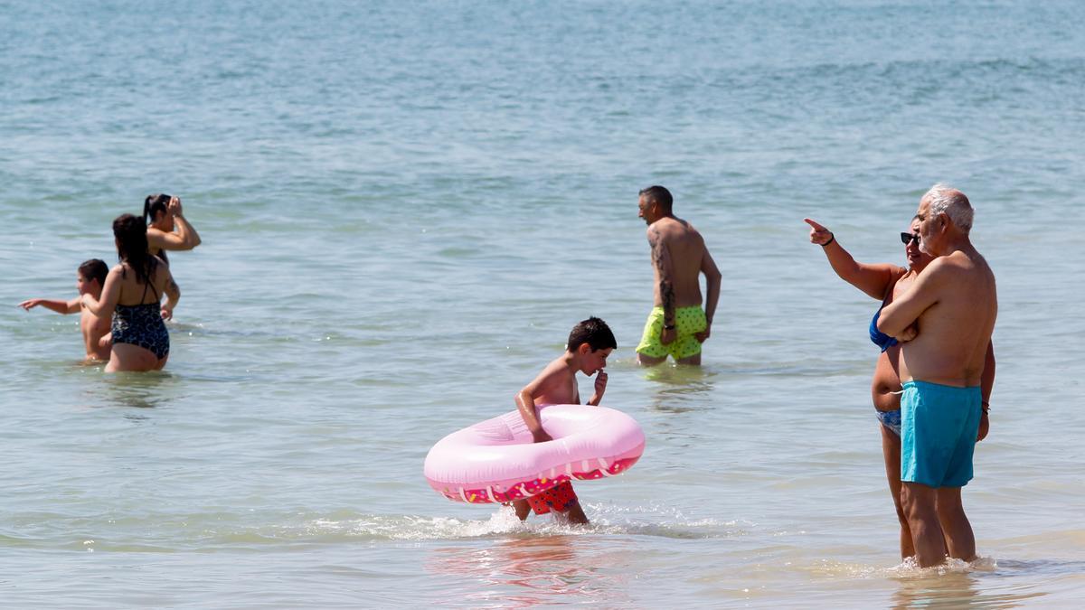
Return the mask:
[[(927, 568), (949, 556), (971, 561), (975, 538), (960, 488), (972, 479), (972, 452), (990, 387), (998, 315), (995, 276), (969, 240), (965, 193), (935, 185), (919, 200), (920, 249), (936, 256), (905, 294), (885, 306), (878, 329), (902, 342), (901, 500), (916, 559)], [(944, 538), (943, 538), (944, 535)], [(945, 546), (943, 546), (943, 539)]]

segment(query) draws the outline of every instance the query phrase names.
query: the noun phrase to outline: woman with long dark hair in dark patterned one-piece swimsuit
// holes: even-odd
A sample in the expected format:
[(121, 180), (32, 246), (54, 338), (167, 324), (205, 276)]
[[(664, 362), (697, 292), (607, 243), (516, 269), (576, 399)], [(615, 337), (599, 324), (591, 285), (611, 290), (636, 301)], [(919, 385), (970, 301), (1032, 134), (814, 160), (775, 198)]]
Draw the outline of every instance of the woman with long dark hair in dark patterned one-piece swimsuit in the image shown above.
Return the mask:
[[(113, 221), (120, 264), (105, 276), (100, 298), (84, 294), (95, 316), (113, 315), (113, 348), (106, 372), (159, 370), (169, 358), (169, 332), (164, 319), (173, 316), (181, 291), (169, 267), (148, 252), (146, 224), (131, 214)], [(168, 297), (162, 305), (162, 295)]]

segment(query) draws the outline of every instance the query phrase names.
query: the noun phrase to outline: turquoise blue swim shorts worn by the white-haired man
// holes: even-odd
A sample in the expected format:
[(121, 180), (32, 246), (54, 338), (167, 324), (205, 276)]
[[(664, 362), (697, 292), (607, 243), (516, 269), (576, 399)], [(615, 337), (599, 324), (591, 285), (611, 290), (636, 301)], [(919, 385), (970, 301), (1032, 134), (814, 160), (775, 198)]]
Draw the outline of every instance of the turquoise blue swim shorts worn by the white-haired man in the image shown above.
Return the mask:
[(901, 396), (901, 481), (962, 487), (972, 480), (980, 429), (980, 386), (904, 383)]

